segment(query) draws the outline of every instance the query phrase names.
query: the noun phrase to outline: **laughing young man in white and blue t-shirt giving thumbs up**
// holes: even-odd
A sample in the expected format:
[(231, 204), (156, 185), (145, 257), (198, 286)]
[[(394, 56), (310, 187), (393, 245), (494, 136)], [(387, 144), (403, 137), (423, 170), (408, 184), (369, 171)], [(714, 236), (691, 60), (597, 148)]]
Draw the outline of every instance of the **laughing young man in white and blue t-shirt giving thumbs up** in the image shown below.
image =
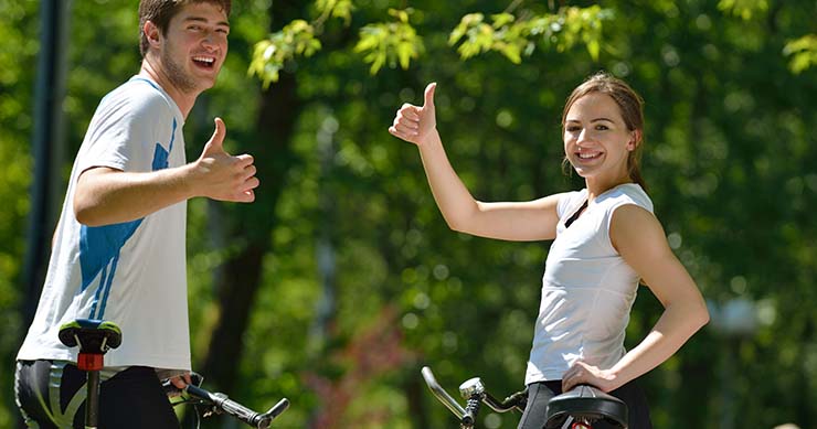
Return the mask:
[(84, 427), (85, 375), (60, 326), (123, 331), (106, 357), (100, 426), (178, 428), (160, 378), (190, 371), (187, 200), (252, 202), (253, 158), (224, 152), (224, 122), (188, 163), (182, 126), (227, 53), (230, 0), (141, 0), (141, 69), (99, 104), (74, 162), (15, 394), (31, 427)]

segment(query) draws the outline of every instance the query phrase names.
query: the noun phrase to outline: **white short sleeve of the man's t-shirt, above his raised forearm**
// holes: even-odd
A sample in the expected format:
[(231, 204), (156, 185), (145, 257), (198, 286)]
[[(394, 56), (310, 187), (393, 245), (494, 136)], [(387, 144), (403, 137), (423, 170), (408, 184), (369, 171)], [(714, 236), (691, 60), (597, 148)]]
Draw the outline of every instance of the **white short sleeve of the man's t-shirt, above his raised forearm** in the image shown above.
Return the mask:
[(167, 103), (153, 90), (126, 84), (106, 96), (92, 119), (78, 155), (79, 171), (107, 167), (151, 171), (157, 130), (172, 118)]

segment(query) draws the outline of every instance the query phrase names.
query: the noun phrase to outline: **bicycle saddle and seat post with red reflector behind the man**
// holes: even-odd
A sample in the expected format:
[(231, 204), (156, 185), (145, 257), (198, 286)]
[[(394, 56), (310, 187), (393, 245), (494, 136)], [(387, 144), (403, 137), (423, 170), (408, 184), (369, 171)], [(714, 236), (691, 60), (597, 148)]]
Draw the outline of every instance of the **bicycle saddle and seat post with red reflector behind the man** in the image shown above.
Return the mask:
[(60, 341), (68, 347), (79, 346), (76, 367), (87, 375), (85, 427), (96, 428), (99, 419), (99, 372), (105, 353), (121, 344), (121, 331), (113, 322), (77, 319), (60, 326)]

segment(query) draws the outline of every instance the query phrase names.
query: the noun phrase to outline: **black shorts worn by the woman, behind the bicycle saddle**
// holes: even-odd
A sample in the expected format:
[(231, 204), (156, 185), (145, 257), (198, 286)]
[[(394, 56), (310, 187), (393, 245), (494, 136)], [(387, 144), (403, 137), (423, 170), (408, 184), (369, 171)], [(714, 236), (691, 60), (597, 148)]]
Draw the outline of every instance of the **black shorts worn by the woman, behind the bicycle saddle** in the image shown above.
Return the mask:
[[(531, 383), (528, 385), (528, 406), (524, 408), (518, 429), (542, 429), (545, 423), (545, 410), (550, 398), (562, 393), (562, 380)], [(627, 404), (629, 429), (652, 429), (649, 420), (647, 397), (635, 382), (609, 393)], [(593, 429), (613, 429), (607, 422), (595, 422)]]

